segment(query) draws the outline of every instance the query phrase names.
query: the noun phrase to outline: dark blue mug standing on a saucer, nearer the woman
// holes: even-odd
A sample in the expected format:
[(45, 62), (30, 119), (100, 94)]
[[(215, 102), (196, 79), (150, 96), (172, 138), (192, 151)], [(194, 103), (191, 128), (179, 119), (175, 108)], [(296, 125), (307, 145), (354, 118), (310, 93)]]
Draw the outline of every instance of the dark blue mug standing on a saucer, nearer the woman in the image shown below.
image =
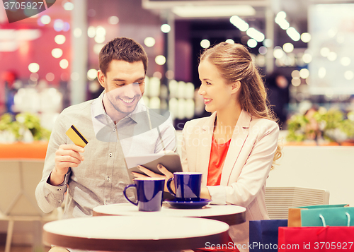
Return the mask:
[[(171, 189), (171, 182), (175, 181), (176, 193)], [(173, 178), (167, 181), (167, 189), (176, 197), (177, 201), (199, 201), (202, 185), (201, 172), (175, 172)]]

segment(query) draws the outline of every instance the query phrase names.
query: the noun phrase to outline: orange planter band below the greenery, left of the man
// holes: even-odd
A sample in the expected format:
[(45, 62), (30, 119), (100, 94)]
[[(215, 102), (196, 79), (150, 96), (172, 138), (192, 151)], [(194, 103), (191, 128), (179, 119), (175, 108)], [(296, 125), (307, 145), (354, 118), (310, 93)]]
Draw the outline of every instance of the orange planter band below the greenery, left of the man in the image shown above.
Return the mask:
[(0, 143), (0, 158), (34, 158), (45, 159), (48, 142), (33, 143)]

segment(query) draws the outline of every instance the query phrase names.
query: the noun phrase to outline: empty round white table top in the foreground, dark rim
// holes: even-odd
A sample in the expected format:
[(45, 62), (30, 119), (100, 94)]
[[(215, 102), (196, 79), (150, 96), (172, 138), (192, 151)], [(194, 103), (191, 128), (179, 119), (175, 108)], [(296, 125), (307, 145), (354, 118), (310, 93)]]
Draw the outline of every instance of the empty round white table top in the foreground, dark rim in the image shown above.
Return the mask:
[(183, 217), (99, 216), (49, 222), (45, 244), (99, 251), (173, 251), (222, 244), (229, 225)]

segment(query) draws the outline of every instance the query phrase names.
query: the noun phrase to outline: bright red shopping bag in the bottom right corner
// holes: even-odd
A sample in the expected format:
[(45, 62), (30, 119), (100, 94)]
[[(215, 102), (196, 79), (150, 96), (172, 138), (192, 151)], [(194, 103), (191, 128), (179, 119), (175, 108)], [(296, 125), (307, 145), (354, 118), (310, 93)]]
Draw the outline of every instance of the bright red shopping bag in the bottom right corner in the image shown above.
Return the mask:
[(354, 227), (279, 227), (278, 251), (354, 251)]

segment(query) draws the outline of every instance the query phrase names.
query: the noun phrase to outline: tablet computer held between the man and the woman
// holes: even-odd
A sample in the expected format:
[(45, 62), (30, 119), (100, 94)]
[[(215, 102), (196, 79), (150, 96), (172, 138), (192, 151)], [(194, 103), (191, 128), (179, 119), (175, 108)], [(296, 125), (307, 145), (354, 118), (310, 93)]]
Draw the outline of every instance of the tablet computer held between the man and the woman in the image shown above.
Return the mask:
[(141, 165), (156, 174), (164, 175), (157, 168), (157, 164), (162, 164), (172, 173), (183, 172), (181, 158), (176, 152), (169, 152), (166, 154), (160, 152), (150, 155), (125, 157), (125, 162), (127, 163), (129, 173), (137, 172), (139, 174), (144, 174), (144, 172), (137, 168), (137, 165)]

